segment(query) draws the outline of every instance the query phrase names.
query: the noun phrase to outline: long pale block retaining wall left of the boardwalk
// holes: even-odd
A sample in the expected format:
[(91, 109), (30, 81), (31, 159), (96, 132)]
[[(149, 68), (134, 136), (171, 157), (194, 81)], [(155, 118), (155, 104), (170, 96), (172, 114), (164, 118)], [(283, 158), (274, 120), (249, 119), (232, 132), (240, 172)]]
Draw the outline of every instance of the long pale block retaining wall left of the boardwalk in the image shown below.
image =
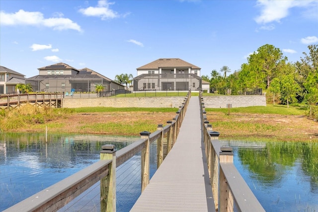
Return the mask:
[[(185, 96), (135, 98), (65, 98), (63, 108), (79, 107), (152, 107), (179, 108)], [(198, 98), (198, 97), (194, 97)]]

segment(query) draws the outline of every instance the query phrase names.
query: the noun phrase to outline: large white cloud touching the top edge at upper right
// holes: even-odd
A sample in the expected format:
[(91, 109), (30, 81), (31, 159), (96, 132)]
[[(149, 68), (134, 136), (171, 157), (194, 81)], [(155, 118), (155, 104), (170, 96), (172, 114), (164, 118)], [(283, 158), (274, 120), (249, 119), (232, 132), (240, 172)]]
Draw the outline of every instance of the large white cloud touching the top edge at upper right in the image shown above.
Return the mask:
[(261, 7), (261, 14), (255, 18), (256, 23), (266, 24), (273, 21), (280, 22), (289, 15), (289, 9), (293, 7), (307, 7), (314, 0), (257, 0), (257, 6)]

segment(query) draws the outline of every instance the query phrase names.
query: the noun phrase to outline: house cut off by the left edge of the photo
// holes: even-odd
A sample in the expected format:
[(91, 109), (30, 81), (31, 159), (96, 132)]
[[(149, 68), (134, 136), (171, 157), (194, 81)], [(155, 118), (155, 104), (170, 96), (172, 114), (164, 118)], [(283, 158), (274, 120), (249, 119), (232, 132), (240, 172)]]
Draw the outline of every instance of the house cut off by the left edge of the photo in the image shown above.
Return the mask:
[(25, 75), (0, 66), (0, 94), (15, 93), (17, 84), (25, 84)]

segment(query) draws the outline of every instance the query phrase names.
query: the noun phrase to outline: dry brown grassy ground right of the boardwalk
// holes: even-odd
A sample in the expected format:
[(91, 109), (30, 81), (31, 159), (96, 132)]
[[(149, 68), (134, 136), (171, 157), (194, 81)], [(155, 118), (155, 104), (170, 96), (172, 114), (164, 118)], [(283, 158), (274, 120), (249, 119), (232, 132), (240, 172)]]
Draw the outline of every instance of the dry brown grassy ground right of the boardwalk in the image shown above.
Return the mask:
[(207, 119), (212, 120), (212, 126), (213, 122), (232, 123), (230, 127), (216, 125), (213, 128), (220, 132), (220, 138), (223, 139), (318, 141), (318, 122), (303, 116), (239, 113), (227, 116), (222, 113), (209, 113)]

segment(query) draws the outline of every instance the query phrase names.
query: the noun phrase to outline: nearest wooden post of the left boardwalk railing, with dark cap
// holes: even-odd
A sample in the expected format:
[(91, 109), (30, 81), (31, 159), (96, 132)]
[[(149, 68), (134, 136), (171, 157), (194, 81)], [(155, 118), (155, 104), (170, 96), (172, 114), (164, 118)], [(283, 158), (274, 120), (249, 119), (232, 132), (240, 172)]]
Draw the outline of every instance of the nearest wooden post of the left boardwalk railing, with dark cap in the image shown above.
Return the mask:
[(116, 211), (116, 147), (103, 145), (100, 151), (101, 160), (112, 159), (108, 165), (108, 175), (100, 180), (100, 211)]

